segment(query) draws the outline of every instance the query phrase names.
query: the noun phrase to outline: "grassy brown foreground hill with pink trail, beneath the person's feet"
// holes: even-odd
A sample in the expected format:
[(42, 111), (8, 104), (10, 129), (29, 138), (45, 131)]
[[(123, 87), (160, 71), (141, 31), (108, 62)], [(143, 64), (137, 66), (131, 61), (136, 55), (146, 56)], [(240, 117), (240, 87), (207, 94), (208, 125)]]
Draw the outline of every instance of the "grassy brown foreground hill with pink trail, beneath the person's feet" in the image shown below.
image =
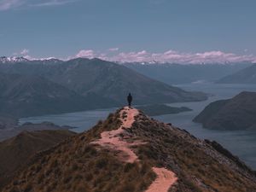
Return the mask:
[(90, 131), (37, 154), (9, 191), (256, 190), (254, 173), (218, 143), (122, 108)]

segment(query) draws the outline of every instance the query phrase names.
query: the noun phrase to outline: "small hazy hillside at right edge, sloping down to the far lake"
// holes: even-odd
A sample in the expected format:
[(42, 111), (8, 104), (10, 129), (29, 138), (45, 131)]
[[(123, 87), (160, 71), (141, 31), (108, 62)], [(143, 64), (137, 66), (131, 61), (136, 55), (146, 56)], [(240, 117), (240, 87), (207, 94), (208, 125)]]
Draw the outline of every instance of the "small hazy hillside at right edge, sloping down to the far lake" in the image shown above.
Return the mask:
[(256, 64), (217, 81), (219, 84), (256, 84)]

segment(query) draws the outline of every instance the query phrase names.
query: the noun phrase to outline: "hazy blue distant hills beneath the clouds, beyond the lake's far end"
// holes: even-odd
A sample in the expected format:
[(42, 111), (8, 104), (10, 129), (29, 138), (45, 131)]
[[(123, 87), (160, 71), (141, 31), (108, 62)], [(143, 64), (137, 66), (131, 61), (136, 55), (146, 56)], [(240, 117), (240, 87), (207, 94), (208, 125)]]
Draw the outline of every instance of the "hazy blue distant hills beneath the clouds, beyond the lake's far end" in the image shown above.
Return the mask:
[(169, 64), (169, 63), (124, 63), (138, 73), (166, 84), (188, 84), (194, 82), (214, 82), (224, 76), (236, 73), (251, 63), (228, 64)]

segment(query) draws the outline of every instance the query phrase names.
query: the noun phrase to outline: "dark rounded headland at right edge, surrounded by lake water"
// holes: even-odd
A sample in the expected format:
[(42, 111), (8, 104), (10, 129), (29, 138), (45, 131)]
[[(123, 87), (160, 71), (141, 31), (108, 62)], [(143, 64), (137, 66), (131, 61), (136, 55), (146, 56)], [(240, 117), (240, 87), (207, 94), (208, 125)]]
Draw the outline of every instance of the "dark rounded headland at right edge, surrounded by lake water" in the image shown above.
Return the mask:
[(256, 129), (256, 93), (241, 92), (229, 100), (210, 103), (194, 121), (209, 129)]

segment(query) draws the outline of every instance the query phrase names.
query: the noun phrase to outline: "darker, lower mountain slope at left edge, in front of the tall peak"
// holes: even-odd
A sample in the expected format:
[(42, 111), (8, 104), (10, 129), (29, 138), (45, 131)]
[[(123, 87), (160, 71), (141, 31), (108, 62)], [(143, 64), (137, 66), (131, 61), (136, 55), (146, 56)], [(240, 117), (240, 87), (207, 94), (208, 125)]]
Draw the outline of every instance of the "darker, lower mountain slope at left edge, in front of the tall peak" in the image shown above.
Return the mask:
[[(92, 103), (93, 102), (93, 103)], [(101, 96), (80, 96), (60, 84), (35, 76), (0, 73), (0, 114), (26, 117), (109, 107)], [(113, 102), (112, 102), (113, 105)]]

